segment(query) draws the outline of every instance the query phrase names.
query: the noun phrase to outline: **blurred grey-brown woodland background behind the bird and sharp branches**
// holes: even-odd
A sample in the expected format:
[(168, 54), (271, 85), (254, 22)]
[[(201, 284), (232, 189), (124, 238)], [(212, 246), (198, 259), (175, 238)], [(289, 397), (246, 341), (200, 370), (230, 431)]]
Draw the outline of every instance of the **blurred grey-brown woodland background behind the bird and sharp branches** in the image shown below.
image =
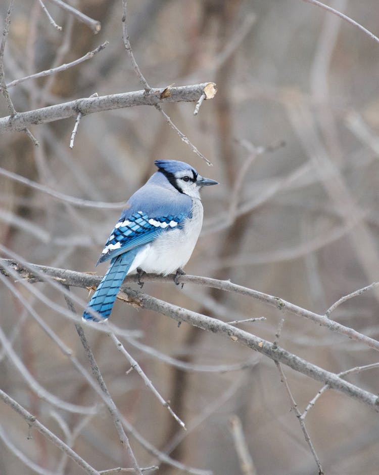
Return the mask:
[[(0, 6), (2, 25), (7, 4)], [(379, 33), (376, 0), (327, 4)], [(76, 67), (10, 88), (18, 111), (95, 92), (141, 89), (122, 42), (121, 2), (81, 0), (75, 6), (101, 21), (99, 34), (46, 1), (63, 27), (59, 32), (38, 2), (15, 1), (4, 58), (7, 82), (110, 43)], [(379, 45), (300, 0), (130, 1), (127, 24), (136, 61), (152, 87), (217, 84), (215, 98), (203, 103), (198, 116), (193, 115), (194, 103), (163, 106), (213, 167), (153, 107), (83, 117), (72, 150), (74, 119), (32, 127), (40, 147), (24, 133), (3, 134), (1, 167), (68, 195), (121, 202), (154, 172), (154, 160), (182, 160), (220, 182), (203, 190), (203, 231), (187, 273), (231, 279), (321, 314), (341, 296), (378, 280)], [(0, 114), (9, 114), (3, 97)], [(95, 271), (119, 214), (117, 209), (74, 207), (0, 176), (0, 242), (29, 262)], [(103, 264), (96, 271), (104, 274), (106, 268)], [(33, 285), (65, 305), (50, 286)], [(19, 284), (15, 288), (88, 367), (72, 322), (33, 292)], [(72, 291), (88, 298), (87, 290)], [(372, 349), (242, 296), (189, 284), (180, 290), (171, 283), (146, 283), (143, 291), (225, 322), (264, 316), (265, 321), (241, 328), (270, 341), (284, 317), (280, 345), (332, 372), (377, 362)], [(99, 403), (2, 283), (0, 300), (1, 328), (33, 378), (66, 402)], [(378, 338), (378, 303), (379, 293), (371, 291), (332, 316)], [(135, 372), (125, 374), (129, 365), (107, 335), (86, 330), (119, 410), (156, 448), (188, 467), (217, 475), (250, 473), (243, 472), (234, 447), (230, 419), (236, 415), (257, 474), (317, 473), (271, 360), (219, 335), (186, 324), (178, 328), (166, 316), (122, 302), (116, 302), (112, 322), (143, 332), (138, 341), (144, 348), (125, 338), (122, 342), (190, 429), (183, 433)], [(147, 347), (185, 362), (188, 370), (158, 359)], [(0, 357), (2, 389), (63, 440), (79, 427), (73, 448), (88, 463), (98, 470), (131, 466), (103, 406), (91, 416), (53, 408), (30, 389), (12, 358), (3, 351)], [(203, 365), (211, 368), (205, 371)], [(227, 371), (220, 371), (220, 365)], [(322, 385), (284, 370), (302, 411)], [(347, 379), (379, 391), (377, 370)], [(58, 449), (36, 431), (27, 440), (27, 424), (3, 403), (0, 420), (4, 437), (46, 472), (79, 473), (71, 461), (60, 464)], [(379, 423), (365, 406), (327, 391), (306, 423), (325, 473), (378, 473)], [(157, 463), (132, 436), (130, 441), (141, 466)], [(3, 439), (0, 473), (34, 472)], [(182, 470), (161, 464), (155, 473)]]

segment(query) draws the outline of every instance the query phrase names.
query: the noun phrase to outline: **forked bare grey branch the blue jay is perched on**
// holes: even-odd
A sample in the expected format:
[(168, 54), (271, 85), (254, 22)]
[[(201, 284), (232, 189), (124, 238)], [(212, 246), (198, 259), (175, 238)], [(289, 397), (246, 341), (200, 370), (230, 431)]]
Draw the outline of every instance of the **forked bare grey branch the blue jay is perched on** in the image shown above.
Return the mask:
[[(13, 269), (19, 272), (22, 278), (27, 278), (27, 276), (33, 276), (34, 279), (41, 280), (41, 277), (39, 275), (33, 274), (33, 272), (28, 269), (25, 270), (25, 266), (22, 266), (13, 260), (3, 259), (1, 260), (1, 262), (4, 265), (11, 266)], [(28, 267), (30, 267), (30, 269), (35, 269), (35, 272), (37, 272), (38, 274), (43, 272), (44, 274), (46, 274), (46, 278), (48, 275), (55, 276), (55, 278), (59, 278), (64, 285), (70, 285), (74, 287), (86, 288), (91, 286), (97, 286), (99, 285), (102, 279), (101, 276), (74, 272), (72, 270), (56, 269), (53, 267), (37, 266), (34, 264), (28, 264)], [(144, 276), (144, 280), (147, 280), (148, 278), (149, 280), (169, 280), (170, 282), (172, 282), (172, 276), (169, 276), (168, 278), (162, 278), (154, 275)], [(129, 282), (136, 281), (136, 279), (136, 276), (130, 276), (128, 278)], [(296, 305), (278, 299), (277, 297), (263, 294), (252, 289), (247, 289), (245, 287), (232, 284), (229, 281), (217, 281), (215, 279), (201, 278), (191, 275), (180, 276), (180, 279), (182, 282), (194, 282), (200, 285), (207, 285), (221, 290), (229, 292), (232, 291), (242, 295), (250, 296), (252, 298), (257, 298), (258, 300), (265, 302), (269, 305), (275, 306), (280, 310), (288, 310), (291, 313), (295, 313), (299, 316), (309, 318), (310, 320), (316, 323), (322, 323), (330, 330), (339, 331), (340, 333), (343, 333), (350, 337), (353, 337), (352, 335), (354, 335), (354, 338), (356, 340), (365, 342), (368, 346), (374, 349), (377, 349), (379, 347), (379, 342), (373, 340), (372, 338), (366, 337), (365, 335), (361, 335), (355, 330), (352, 330), (348, 327), (344, 327), (343, 325), (337, 324), (336, 322), (330, 321), (325, 316), (317, 315), (316, 313), (310, 312), (301, 307), (297, 307)], [(162, 313), (178, 322), (187, 322), (203, 330), (211, 331), (213, 333), (220, 333), (223, 336), (232, 339), (233, 341), (238, 341), (240, 344), (248, 346), (249, 348), (258, 351), (259, 353), (264, 354), (266, 357), (274, 361), (283, 363), (294, 369), (295, 371), (303, 373), (311, 377), (312, 379), (315, 379), (316, 381), (322, 381), (324, 383), (327, 383), (331, 388), (344, 392), (349, 397), (357, 399), (358, 401), (366, 404), (375, 411), (378, 410), (378, 398), (375, 394), (365, 391), (355, 386), (354, 384), (348, 383), (341, 379), (338, 375), (326, 371), (316, 365), (313, 365), (297, 357), (295, 354), (290, 353), (289, 351), (279, 346), (276, 346), (273, 343), (270, 343), (267, 340), (259, 338), (246, 331), (240, 330), (239, 328), (232, 327), (217, 319), (212, 319), (206, 315), (202, 315), (200, 313), (178, 307), (168, 302), (164, 302), (163, 300), (151, 297), (147, 294), (132, 290), (129, 287), (126, 287), (125, 285), (122, 286), (121, 291), (123, 294), (125, 294), (124, 297), (122, 297), (121, 295), (122, 300), (125, 300), (125, 298), (126, 301), (131, 299), (134, 305), (138, 305), (142, 308), (147, 308)]]

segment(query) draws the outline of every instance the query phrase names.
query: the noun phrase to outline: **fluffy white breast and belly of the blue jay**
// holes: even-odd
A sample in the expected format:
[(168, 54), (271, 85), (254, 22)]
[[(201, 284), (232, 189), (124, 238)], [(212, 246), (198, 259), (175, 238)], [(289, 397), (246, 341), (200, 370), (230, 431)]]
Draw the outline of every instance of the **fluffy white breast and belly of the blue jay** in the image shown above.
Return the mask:
[(192, 218), (184, 220), (181, 229), (169, 229), (152, 243), (141, 248), (135, 256), (128, 274), (137, 267), (145, 272), (168, 275), (188, 262), (198, 241), (203, 224), (203, 205), (193, 200)]

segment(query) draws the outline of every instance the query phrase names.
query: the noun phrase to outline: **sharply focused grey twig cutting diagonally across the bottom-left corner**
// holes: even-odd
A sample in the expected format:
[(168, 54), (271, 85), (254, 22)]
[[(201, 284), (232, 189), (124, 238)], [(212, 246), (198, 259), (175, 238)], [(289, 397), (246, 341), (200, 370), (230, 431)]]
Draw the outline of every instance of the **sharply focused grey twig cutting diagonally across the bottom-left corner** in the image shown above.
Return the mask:
[(100, 473), (91, 467), (84, 459), (74, 452), (67, 444), (59, 439), (51, 430), (41, 424), (35, 416), (30, 414), (25, 408), (20, 406), (14, 399), (12, 399), (7, 393), (0, 389), (0, 399), (2, 399), (8, 406), (16, 411), (21, 417), (23, 417), (28, 423), (29, 427), (35, 427), (38, 432), (42, 434), (46, 439), (51, 441), (60, 450), (65, 452), (75, 463), (77, 463), (86, 473), (90, 475), (100, 475)]

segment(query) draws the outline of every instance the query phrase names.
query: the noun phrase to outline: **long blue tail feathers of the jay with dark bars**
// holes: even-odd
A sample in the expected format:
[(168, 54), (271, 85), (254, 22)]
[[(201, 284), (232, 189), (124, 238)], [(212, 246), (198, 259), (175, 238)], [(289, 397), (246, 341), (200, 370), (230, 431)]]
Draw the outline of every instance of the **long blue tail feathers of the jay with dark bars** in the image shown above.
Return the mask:
[[(111, 314), (118, 291), (138, 251), (139, 249), (133, 249), (111, 260), (107, 273), (88, 302), (88, 307), (100, 313), (104, 320), (107, 320)], [(83, 319), (94, 322), (100, 321), (87, 310), (83, 313)]]

